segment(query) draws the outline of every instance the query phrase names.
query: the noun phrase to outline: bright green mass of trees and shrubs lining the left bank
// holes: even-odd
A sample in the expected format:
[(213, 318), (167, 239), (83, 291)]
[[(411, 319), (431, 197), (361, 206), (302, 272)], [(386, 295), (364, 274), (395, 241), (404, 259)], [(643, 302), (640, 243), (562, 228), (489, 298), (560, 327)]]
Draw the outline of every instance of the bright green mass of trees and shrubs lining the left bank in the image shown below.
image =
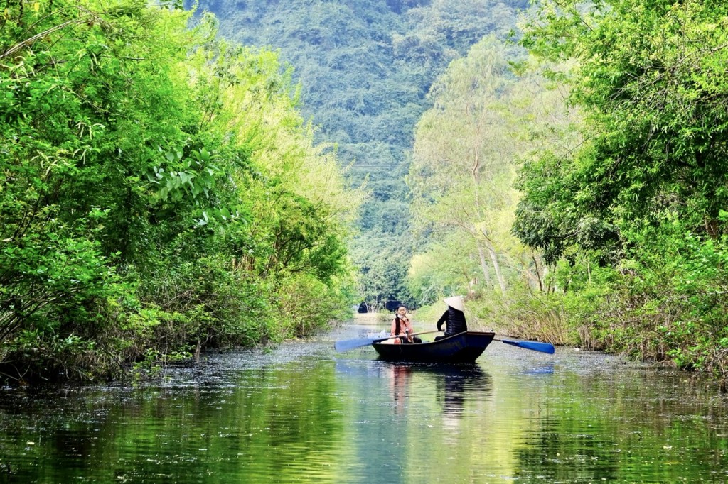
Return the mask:
[(349, 302), (360, 195), (272, 52), (171, 5), (0, 24), (0, 372), (108, 376), (305, 334)]

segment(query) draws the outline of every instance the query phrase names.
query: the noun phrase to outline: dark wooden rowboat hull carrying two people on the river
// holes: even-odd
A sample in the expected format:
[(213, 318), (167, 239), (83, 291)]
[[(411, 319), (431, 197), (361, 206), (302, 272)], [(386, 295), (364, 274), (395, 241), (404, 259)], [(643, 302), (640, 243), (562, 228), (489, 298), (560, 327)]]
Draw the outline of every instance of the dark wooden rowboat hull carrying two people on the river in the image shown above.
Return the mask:
[(465, 331), (438, 341), (418, 344), (373, 343), (381, 360), (413, 361), (418, 363), (472, 363), (488, 344), (495, 333)]

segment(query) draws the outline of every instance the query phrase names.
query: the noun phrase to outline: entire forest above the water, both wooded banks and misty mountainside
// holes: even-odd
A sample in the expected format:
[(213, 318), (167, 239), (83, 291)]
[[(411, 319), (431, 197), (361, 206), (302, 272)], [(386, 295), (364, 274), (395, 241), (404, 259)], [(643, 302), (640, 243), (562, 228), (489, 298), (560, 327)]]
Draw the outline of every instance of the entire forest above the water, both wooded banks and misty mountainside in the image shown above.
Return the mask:
[(727, 385), (717, 1), (17, 1), (0, 371), (96, 378), (388, 299)]

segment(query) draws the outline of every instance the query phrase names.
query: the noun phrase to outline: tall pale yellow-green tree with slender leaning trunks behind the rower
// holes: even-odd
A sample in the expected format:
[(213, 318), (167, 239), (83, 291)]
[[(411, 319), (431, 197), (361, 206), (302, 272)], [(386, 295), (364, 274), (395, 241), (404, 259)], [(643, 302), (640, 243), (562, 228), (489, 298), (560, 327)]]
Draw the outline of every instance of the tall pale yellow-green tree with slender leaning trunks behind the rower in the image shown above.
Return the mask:
[(445, 231), (462, 231), (472, 238), (483, 280), (490, 278), (488, 258), (505, 292), (493, 238), (496, 217), (486, 215), (503, 203), (510, 206), (504, 197), (514, 170), (512, 163), (502, 162), (513, 161), (503, 153), (513, 140), (504, 132), (505, 113), (498, 102), (515, 79), (507, 78), (508, 64), (499, 47), (494, 39), (481, 41), (432, 86), (433, 108), (422, 116), (416, 132), (411, 182), (416, 200), (422, 202), (414, 204), (419, 213), (443, 224)]

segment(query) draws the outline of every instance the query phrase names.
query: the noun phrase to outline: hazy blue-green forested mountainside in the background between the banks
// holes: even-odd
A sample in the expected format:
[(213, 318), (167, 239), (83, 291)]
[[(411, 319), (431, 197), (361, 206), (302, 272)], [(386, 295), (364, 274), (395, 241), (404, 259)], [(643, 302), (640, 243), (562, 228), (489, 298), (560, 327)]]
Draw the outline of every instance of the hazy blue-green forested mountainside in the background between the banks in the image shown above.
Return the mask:
[[(192, 7), (191, 0), (186, 7)], [(408, 189), (414, 126), (448, 64), (483, 36), (507, 39), (528, 0), (201, 0), (226, 39), (280, 51), (301, 83), (301, 110), (366, 183), (352, 256), (368, 303), (411, 302)]]

